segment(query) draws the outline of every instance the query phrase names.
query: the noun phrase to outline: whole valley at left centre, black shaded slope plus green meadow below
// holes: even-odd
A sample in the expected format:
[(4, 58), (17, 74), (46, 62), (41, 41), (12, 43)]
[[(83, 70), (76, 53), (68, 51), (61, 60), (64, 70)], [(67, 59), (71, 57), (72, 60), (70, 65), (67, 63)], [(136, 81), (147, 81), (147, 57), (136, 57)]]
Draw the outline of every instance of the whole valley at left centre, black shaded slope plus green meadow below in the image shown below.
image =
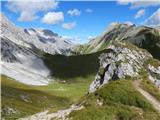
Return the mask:
[[(15, 119), (70, 106), (88, 92), (102, 52), (68, 57), (45, 54), (44, 62), (54, 76), (47, 86), (29, 86), (2, 75), (2, 116)], [(10, 108), (17, 112), (8, 113)]]

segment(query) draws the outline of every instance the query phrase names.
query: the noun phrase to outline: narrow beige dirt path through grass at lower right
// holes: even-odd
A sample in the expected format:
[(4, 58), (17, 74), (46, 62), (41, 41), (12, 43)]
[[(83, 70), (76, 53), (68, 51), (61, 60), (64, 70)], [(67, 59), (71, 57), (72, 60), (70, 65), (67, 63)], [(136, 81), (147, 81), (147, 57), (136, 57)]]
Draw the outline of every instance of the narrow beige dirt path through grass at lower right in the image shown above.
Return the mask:
[(160, 112), (160, 102), (153, 97), (150, 93), (148, 93), (147, 91), (143, 90), (140, 87), (140, 80), (135, 80), (133, 82), (134, 87), (153, 105), (153, 107)]

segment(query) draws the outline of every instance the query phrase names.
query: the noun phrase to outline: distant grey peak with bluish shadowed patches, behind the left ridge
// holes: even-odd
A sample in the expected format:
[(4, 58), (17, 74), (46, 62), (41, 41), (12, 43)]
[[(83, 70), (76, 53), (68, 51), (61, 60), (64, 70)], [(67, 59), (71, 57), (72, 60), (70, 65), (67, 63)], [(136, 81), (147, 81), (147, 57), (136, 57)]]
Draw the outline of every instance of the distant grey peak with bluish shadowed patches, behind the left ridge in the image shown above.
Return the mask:
[[(58, 34), (47, 29), (25, 29), (30, 36), (36, 36), (41, 46), (37, 46), (38, 49), (42, 48), (42, 51), (50, 54), (72, 54), (72, 43), (69, 40), (59, 36)], [(43, 49), (44, 48), (44, 49)]]

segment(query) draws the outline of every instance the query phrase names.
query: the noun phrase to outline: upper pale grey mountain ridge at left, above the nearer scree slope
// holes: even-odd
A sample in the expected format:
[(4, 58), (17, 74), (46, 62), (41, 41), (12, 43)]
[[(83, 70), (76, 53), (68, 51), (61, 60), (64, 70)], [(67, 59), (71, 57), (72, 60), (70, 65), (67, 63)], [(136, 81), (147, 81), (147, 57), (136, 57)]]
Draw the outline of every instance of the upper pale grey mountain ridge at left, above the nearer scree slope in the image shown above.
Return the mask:
[(71, 54), (72, 43), (46, 29), (23, 29), (15, 26), (1, 13), (1, 38), (49, 54)]

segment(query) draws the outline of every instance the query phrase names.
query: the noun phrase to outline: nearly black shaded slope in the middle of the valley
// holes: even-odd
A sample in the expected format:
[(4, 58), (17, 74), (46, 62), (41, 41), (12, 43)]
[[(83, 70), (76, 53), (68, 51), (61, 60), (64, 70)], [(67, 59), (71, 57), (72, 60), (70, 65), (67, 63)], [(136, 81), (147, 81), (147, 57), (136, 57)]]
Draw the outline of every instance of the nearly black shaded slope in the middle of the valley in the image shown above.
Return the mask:
[(92, 54), (64, 56), (44, 55), (44, 63), (51, 70), (51, 75), (57, 78), (74, 78), (95, 75), (99, 67), (99, 55), (108, 50)]

